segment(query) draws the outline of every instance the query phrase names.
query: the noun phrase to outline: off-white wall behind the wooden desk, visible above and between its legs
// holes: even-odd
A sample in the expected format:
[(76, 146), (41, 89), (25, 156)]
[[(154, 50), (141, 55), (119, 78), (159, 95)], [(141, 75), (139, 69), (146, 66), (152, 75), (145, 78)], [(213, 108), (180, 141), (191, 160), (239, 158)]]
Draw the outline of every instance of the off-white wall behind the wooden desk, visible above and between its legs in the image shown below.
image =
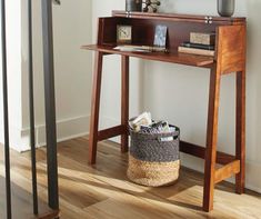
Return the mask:
[[(217, 13), (217, 1), (162, 0), (161, 12), (211, 14)], [(237, 0), (235, 14), (248, 18), (248, 73), (247, 73), (247, 187), (261, 191), (261, 2)], [(96, 0), (92, 6), (93, 24), (97, 17), (110, 16), (111, 10), (124, 9), (121, 0)], [(96, 27), (93, 26), (96, 32)], [(94, 39), (93, 39), (94, 42)], [(101, 126), (119, 123), (119, 58), (106, 60)], [(155, 61), (135, 61), (131, 64), (131, 116), (150, 110), (155, 119), (167, 119), (180, 126), (181, 138), (199, 145), (205, 142), (209, 71), (192, 67)], [(140, 82), (139, 82), (140, 80)], [(219, 150), (234, 152), (234, 74), (221, 81)], [(113, 88), (113, 89), (112, 89)], [(116, 97), (116, 98), (111, 98)], [(200, 159), (182, 156), (182, 165), (200, 170)]]

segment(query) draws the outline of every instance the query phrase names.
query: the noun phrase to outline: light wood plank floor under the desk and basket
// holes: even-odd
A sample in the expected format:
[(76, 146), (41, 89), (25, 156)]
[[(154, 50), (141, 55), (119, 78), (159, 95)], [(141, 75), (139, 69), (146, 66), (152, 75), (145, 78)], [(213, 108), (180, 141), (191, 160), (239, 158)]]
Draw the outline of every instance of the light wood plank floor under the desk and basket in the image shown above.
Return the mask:
[[(217, 188), (212, 212), (201, 211), (203, 176), (184, 168), (173, 186), (134, 185), (126, 177), (128, 155), (116, 146), (99, 143), (98, 163), (90, 167), (87, 138), (59, 143), (61, 219), (261, 218), (261, 196), (251, 191), (235, 195), (230, 183)], [(30, 155), (12, 151), (11, 156), (12, 181), (30, 191)], [(39, 195), (46, 200), (44, 148), (38, 150), (38, 181)]]

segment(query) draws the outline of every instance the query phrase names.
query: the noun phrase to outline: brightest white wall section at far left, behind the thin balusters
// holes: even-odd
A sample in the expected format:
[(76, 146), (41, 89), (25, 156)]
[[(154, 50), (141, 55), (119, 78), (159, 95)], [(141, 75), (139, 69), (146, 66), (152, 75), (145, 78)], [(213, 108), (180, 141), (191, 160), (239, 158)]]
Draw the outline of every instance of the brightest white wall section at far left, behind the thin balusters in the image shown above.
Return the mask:
[[(10, 119), (10, 145), (20, 142), (21, 130), (21, 3), (17, 0), (6, 2), (6, 26), (7, 26), (7, 64), (8, 64), (8, 97)], [(17, 40), (14, 40), (17, 39)], [(1, 47), (1, 46), (0, 46)], [(0, 53), (0, 58), (2, 54)], [(0, 61), (0, 72), (2, 70)], [(1, 73), (2, 76), (2, 73)], [(2, 77), (0, 77), (0, 139), (3, 139), (2, 118)]]

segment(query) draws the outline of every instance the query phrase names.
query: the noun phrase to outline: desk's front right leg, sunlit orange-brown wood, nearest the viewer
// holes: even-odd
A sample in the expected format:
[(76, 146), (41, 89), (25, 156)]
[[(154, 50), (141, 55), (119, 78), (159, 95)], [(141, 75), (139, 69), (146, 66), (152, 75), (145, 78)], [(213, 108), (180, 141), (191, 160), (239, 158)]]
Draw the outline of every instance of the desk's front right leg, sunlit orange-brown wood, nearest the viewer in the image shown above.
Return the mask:
[(211, 211), (213, 209), (214, 175), (215, 175), (215, 159), (217, 159), (217, 140), (218, 140), (219, 93), (220, 93), (220, 71), (214, 66), (211, 69), (210, 90), (209, 90), (207, 148), (204, 157), (204, 191), (203, 191), (204, 211)]

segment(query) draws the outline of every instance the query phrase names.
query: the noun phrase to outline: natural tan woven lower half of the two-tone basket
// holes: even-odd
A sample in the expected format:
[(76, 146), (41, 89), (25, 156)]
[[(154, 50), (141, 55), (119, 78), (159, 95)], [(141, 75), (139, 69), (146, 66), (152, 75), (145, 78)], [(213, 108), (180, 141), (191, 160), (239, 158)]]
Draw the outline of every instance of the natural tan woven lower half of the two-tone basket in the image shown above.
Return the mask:
[(141, 161), (129, 155), (128, 178), (148, 187), (169, 186), (179, 178), (180, 160), (172, 162)]

